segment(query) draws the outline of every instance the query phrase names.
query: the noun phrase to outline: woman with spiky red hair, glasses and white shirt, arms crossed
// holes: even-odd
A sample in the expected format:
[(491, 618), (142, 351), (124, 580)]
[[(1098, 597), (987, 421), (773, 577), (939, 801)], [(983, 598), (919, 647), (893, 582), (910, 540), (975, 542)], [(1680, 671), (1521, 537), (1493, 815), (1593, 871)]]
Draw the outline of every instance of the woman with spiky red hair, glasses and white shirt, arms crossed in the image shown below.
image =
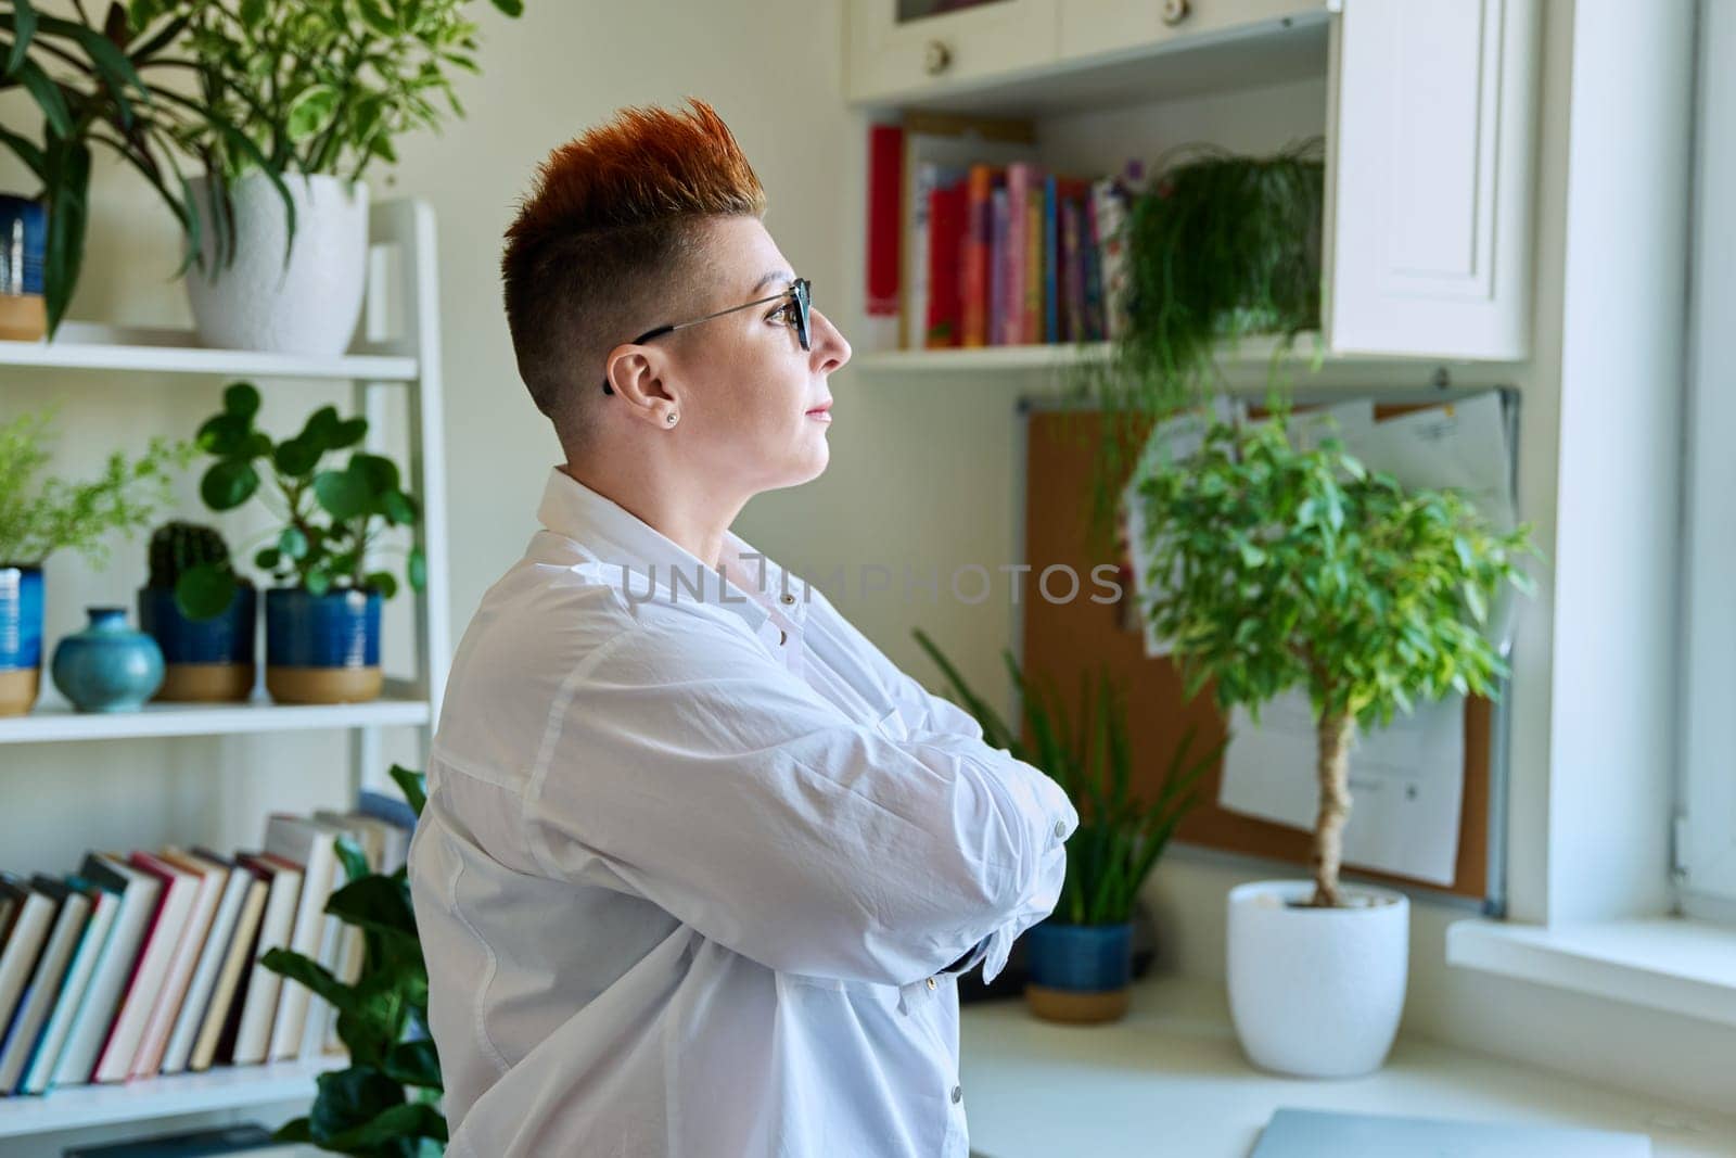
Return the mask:
[(703, 102), (507, 233), (566, 462), (446, 686), (410, 877), (455, 1158), (967, 1153), (955, 976), (1054, 908), (1040, 771), (729, 531), (826, 467), (851, 347)]

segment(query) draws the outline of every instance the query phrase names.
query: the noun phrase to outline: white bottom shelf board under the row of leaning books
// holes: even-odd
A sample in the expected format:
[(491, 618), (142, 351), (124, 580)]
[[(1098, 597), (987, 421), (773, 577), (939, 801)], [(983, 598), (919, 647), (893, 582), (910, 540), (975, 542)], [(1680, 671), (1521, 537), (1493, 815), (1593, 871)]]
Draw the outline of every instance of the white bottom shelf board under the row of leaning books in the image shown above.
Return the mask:
[(0, 1137), (82, 1130), (115, 1122), (264, 1106), (314, 1097), (314, 1078), (349, 1064), (342, 1054), (269, 1066), (231, 1066), (125, 1085), (73, 1085), (43, 1097), (0, 1099)]

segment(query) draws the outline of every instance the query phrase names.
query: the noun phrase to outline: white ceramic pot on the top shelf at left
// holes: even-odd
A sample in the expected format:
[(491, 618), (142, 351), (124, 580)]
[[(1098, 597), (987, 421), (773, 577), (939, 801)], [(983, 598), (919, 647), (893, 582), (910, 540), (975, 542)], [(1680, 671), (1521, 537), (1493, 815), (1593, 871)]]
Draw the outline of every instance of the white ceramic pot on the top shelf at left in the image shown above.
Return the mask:
[(205, 345), (332, 356), (349, 349), (368, 273), (368, 186), (285, 174), (295, 203), (295, 243), (283, 264), (283, 198), (262, 174), (231, 188), (234, 264), (214, 257), (210, 181), (193, 181), (205, 267), (186, 274)]

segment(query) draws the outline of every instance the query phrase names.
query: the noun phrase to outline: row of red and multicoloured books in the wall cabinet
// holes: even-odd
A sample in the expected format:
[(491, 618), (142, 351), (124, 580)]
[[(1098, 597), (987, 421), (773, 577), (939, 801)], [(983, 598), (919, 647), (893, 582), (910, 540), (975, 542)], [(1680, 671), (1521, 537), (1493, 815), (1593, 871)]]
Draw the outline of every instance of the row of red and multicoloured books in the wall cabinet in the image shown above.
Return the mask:
[(1097, 342), (1123, 332), (1137, 161), (1111, 177), (1049, 172), (1016, 123), (873, 134), (868, 302), (882, 313), (896, 302), (901, 345)]

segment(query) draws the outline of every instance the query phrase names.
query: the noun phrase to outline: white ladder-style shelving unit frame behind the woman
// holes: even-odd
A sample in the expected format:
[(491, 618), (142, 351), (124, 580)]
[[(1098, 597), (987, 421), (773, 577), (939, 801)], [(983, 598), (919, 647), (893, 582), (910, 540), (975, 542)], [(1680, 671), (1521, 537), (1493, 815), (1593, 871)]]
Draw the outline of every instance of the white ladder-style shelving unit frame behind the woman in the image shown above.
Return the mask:
[[(377, 203), (370, 215), (366, 340), (339, 358), (293, 358), (252, 351), (203, 349), (191, 332), (122, 330), (66, 323), (54, 342), (0, 342), (0, 382), (17, 372), (56, 370), (250, 378), (262, 391), (297, 382), (347, 380), (354, 411), (370, 422), (368, 446), (382, 450), (391, 392), (404, 392), (410, 486), (422, 500), (415, 542), (427, 557), (427, 585), (415, 601), (415, 675), (387, 681), (373, 703), (304, 707), (266, 698), (238, 705), (151, 705), (134, 714), (80, 714), (45, 682), (30, 715), (0, 719), (0, 745), (224, 736), (304, 729), (342, 729), (351, 736), (351, 800), (363, 785), (382, 785), (382, 727), (417, 727), (424, 750), (451, 656), (446, 568), (446, 469), (439, 375), (439, 285), (434, 212), (417, 200)], [(0, 757), (0, 785), (7, 760)], [(3, 788), (0, 788), (3, 790)], [(7, 792), (16, 807), (28, 793)], [(16, 868), (16, 866), (14, 866)], [(240, 1066), (200, 1075), (148, 1078), (123, 1085), (83, 1085), (45, 1097), (0, 1099), (0, 1139), (120, 1122), (266, 1106), (312, 1099), (314, 1078), (345, 1064), (321, 1057), (271, 1066)]]

